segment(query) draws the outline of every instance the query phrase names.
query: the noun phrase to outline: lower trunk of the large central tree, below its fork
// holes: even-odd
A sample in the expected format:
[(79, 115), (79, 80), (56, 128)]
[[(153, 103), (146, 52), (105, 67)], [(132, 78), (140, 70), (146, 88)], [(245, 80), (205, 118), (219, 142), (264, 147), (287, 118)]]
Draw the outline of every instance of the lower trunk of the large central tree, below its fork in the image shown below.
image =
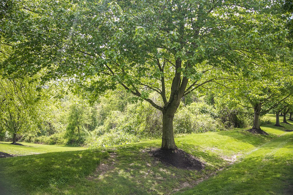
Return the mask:
[(163, 135), (162, 135), (161, 149), (177, 148), (177, 146), (175, 145), (174, 135), (173, 135), (173, 118), (174, 118), (173, 112), (169, 111), (169, 112), (163, 113)]

